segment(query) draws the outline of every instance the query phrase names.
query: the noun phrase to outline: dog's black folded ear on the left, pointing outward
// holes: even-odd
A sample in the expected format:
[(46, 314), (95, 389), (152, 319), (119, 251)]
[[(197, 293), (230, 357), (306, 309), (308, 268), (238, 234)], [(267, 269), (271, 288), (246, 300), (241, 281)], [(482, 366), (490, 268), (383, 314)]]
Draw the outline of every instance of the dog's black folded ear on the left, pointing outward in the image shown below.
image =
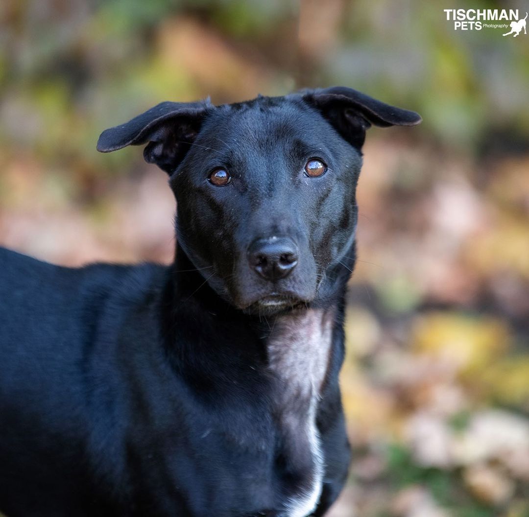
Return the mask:
[(127, 145), (147, 143), (143, 157), (172, 174), (200, 131), (204, 116), (213, 108), (209, 99), (196, 103), (160, 103), (131, 121), (101, 133), (97, 150), (110, 153)]

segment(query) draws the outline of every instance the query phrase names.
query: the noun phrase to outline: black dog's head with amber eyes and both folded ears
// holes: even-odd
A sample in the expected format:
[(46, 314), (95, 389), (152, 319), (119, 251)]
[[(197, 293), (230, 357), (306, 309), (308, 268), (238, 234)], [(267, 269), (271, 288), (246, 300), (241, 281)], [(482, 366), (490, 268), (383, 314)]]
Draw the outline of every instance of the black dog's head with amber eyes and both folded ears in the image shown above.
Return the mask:
[(334, 87), (162, 103), (104, 131), (97, 149), (147, 144), (145, 160), (170, 176), (180, 247), (222, 298), (266, 313), (314, 301), (331, 269), (349, 262), (366, 130), (420, 121)]

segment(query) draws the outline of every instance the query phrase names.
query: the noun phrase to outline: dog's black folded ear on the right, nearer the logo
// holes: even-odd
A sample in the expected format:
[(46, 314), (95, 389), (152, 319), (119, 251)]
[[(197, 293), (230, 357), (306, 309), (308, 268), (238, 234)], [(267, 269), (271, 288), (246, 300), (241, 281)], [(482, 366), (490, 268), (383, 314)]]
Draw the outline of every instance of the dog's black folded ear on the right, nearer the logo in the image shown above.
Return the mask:
[(360, 91), (343, 86), (307, 90), (303, 100), (315, 107), (342, 137), (359, 150), (371, 124), (380, 127), (415, 126), (421, 116), (373, 99)]

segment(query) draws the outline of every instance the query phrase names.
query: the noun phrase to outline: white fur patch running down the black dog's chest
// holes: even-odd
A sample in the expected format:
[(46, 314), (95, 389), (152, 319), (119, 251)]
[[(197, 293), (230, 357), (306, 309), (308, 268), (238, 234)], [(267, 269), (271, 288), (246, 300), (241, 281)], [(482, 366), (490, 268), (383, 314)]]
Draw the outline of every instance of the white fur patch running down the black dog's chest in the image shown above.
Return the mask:
[(279, 316), (267, 343), (270, 370), (280, 379), (278, 414), (286, 439), (310, 455), (310, 486), (289, 498), (285, 517), (306, 517), (322, 491), (323, 454), (316, 410), (331, 350), (334, 311), (305, 309)]

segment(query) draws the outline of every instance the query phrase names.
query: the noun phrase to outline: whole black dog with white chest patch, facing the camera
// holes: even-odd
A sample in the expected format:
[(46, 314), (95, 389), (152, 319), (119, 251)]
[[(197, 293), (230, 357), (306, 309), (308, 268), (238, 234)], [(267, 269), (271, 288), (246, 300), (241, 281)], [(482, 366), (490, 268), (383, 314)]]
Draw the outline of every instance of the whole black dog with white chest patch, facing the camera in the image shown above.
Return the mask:
[(145, 144), (177, 198), (174, 264), (67, 269), (0, 250), (0, 511), (323, 515), (348, 471), (338, 372), (367, 128), (349, 88), (162, 103)]

